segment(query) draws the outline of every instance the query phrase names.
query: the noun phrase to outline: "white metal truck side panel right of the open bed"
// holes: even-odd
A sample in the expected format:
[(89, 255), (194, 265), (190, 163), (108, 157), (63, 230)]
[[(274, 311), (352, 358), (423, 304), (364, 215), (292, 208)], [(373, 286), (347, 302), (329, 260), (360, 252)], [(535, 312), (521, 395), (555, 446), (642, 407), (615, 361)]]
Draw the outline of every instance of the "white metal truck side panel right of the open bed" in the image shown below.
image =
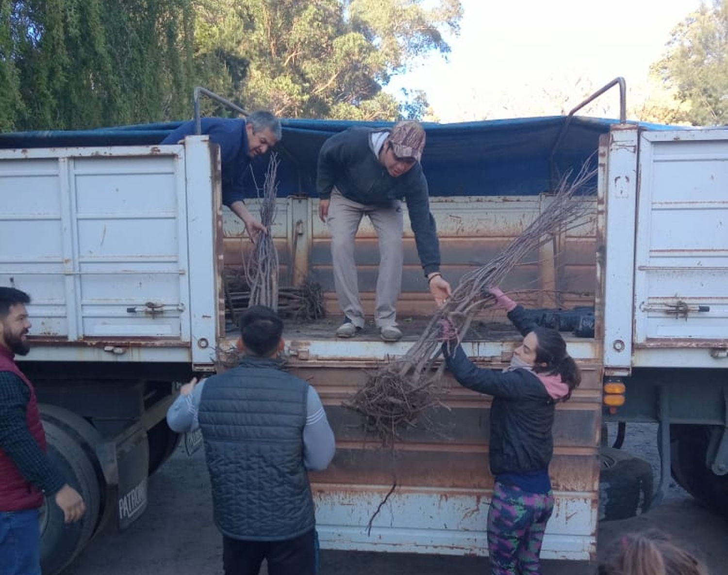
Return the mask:
[(728, 343), (727, 160), (724, 130), (641, 134), (637, 347)]

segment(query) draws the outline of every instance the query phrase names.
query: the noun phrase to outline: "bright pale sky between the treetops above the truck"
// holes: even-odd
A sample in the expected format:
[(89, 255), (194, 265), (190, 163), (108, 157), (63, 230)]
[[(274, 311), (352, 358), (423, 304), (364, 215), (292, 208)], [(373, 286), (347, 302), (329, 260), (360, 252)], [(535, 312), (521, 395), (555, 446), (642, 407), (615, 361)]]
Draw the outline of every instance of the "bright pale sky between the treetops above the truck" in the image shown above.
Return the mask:
[[(644, 100), (649, 66), (700, 0), (461, 0), (459, 36), (386, 90), (424, 90), (440, 122), (561, 114), (617, 76), (628, 108)], [(613, 90), (613, 92), (612, 92)], [(618, 116), (613, 88), (594, 115)]]

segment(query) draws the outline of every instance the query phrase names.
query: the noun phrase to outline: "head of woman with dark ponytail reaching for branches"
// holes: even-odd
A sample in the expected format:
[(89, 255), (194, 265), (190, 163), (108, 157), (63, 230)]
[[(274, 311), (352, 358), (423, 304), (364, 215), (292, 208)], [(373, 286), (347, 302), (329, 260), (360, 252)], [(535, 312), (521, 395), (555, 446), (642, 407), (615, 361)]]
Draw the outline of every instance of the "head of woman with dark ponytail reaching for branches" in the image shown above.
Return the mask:
[[(566, 352), (566, 341), (561, 333), (550, 328), (535, 327), (523, 338), (513, 354), (524, 365), (529, 365), (536, 373), (558, 373), (561, 380), (569, 386), (569, 395), (582, 381), (579, 366)], [(569, 399), (566, 396), (565, 399)]]

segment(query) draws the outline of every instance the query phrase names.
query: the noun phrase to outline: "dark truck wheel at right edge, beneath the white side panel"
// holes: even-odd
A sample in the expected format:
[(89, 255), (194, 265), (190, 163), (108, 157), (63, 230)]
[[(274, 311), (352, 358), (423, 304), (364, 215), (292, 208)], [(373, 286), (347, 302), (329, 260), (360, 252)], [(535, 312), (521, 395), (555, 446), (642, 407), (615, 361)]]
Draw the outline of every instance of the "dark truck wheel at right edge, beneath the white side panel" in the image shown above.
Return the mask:
[(709, 509), (728, 515), (728, 475), (716, 475), (705, 464), (713, 427), (671, 425), (673, 478)]

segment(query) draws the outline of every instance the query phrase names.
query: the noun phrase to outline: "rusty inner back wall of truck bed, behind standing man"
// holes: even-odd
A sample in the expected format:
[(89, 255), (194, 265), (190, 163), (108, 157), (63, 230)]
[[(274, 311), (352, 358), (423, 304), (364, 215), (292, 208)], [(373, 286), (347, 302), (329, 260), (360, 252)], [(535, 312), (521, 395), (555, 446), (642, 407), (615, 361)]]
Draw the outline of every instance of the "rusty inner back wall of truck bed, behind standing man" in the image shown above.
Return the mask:
[[(596, 207), (594, 199), (580, 201), (591, 202)], [(256, 213), (257, 203), (255, 199), (248, 202), (253, 213)], [(431, 198), (430, 207), (438, 226), (443, 274), (451, 285), (457, 285), (473, 266), (494, 258), (537, 217), (543, 203), (542, 198), (533, 196)], [(306, 210), (309, 210), (308, 215)], [(242, 223), (226, 208), (223, 210), (223, 219), (225, 264), (240, 268), (250, 242), (245, 237)], [(547, 302), (535, 298), (524, 303), (561, 307), (593, 304), (596, 291), (595, 228), (593, 218), (585, 218), (571, 229), (564, 230), (558, 250), (550, 258), (544, 258), (539, 250), (526, 255), (524, 261), (509, 274), (503, 288), (534, 290), (539, 287), (539, 277), (553, 269), (555, 283), (550, 289), (556, 290), (555, 299)], [(324, 290), (327, 312), (340, 314), (331, 269), (331, 238), (327, 227), (318, 218), (317, 201), (299, 197), (279, 199), (273, 235), (281, 262), (280, 277), (285, 278), (288, 285), (295, 285), (306, 277), (318, 282)], [(402, 294), (397, 305), (398, 315), (405, 319), (431, 314), (435, 304), (427, 290), (406, 210), (403, 245), (405, 263)], [(292, 265), (294, 253), (298, 261), (296, 266)], [(379, 266), (379, 245), (376, 231), (368, 218), (363, 218), (357, 233), (355, 259), (360, 297), (365, 313), (371, 316)], [(301, 265), (305, 265), (306, 269), (298, 269)], [(531, 293), (526, 298), (532, 296)]]

